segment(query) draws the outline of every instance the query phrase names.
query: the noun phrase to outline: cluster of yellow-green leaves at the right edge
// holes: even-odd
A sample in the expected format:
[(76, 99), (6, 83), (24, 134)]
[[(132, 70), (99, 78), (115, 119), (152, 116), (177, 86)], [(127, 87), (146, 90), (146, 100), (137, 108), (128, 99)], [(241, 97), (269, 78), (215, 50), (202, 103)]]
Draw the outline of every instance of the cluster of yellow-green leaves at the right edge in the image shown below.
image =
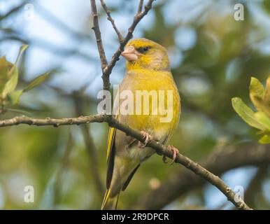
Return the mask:
[(232, 106), (248, 125), (262, 131), (260, 134), (263, 137), (259, 142), (270, 144), (270, 77), (267, 78), (266, 89), (257, 78), (251, 78), (250, 99), (257, 109), (256, 113), (239, 97), (232, 98)]

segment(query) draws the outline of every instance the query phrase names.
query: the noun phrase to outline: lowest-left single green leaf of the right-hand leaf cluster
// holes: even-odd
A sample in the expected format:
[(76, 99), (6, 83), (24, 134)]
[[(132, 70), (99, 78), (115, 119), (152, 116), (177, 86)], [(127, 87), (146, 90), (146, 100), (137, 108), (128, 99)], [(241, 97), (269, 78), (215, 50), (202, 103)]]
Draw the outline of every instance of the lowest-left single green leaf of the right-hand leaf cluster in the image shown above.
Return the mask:
[(241, 118), (248, 123), (248, 125), (252, 127), (256, 127), (257, 129), (260, 129), (262, 131), (266, 130), (267, 128), (264, 127), (261, 123), (257, 121), (255, 118), (255, 112), (250, 109), (241, 98), (234, 97), (232, 98), (232, 106), (234, 108), (234, 111), (241, 116)]

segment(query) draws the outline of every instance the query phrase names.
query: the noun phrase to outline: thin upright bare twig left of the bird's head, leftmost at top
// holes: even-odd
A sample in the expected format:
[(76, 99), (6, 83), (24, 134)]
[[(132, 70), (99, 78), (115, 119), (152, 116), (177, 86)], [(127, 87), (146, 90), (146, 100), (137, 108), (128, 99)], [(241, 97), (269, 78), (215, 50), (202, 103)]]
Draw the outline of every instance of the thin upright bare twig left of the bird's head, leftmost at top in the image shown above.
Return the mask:
[(101, 69), (104, 71), (106, 66), (108, 65), (102, 39), (101, 39), (101, 32), (99, 29), (99, 15), (97, 15), (97, 5), (95, 0), (90, 0), (91, 2), (91, 10), (92, 10), (92, 17), (93, 17), (93, 27), (94, 35), (96, 36), (97, 41), (97, 49), (99, 50), (99, 58), (101, 62)]

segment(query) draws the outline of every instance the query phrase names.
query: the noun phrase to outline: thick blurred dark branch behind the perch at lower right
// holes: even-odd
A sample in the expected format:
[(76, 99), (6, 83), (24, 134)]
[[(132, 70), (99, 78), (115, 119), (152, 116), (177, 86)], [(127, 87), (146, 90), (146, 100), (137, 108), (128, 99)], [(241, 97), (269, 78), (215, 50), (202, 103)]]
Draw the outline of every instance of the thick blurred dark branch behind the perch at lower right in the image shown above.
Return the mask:
[[(244, 155), (244, 156), (243, 156)], [(270, 148), (259, 144), (239, 144), (225, 147), (218, 152), (211, 153), (199, 164), (216, 175), (221, 175), (230, 169), (236, 169), (247, 165), (260, 166), (270, 163)], [(132, 206), (133, 209), (162, 209), (167, 204), (179, 197), (186, 195), (191, 190), (204, 186), (206, 181), (200, 176), (192, 174), (188, 169), (180, 169), (159, 188), (144, 193)], [(166, 197), (159, 197), (166, 195)], [(246, 194), (245, 194), (246, 195)]]

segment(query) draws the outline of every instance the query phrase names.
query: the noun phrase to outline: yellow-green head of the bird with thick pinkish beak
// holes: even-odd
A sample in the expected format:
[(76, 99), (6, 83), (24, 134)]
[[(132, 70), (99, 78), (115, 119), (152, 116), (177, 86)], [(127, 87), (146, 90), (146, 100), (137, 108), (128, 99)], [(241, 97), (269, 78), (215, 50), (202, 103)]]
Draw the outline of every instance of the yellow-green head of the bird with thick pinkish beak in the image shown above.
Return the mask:
[(129, 41), (121, 55), (127, 59), (127, 71), (132, 69), (169, 71), (170, 69), (166, 48), (146, 38)]

